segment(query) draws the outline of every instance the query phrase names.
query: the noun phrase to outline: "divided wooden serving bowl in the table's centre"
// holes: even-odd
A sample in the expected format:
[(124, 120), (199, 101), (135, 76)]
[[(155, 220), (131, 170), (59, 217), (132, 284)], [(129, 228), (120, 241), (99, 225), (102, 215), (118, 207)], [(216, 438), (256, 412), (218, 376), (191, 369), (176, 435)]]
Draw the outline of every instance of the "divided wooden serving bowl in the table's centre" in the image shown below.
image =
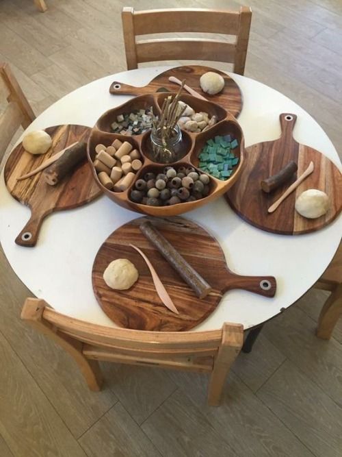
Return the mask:
[[(170, 95), (170, 92), (159, 92), (155, 94), (141, 95), (140, 97), (135, 97), (134, 99), (127, 101), (127, 103), (124, 103), (117, 108), (105, 112), (96, 122), (96, 125), (92, 129), (90, 138), (88, 140), (88, 160), (92, 168), (94, 180), (98, 184), (99, 188), (101, 188), (103, 193), (105, 193), (110, 199), (118, 203), (118, 205), (123, 206), (124, 208), (159, 217), (176, 216), (177, 214), (183, 214), (184, 212), (194, 210), (195, 208), (203, 206), (209, 201), (220, 197), (220, 195), (226, 193), (226, 191), (231, 186), (233, 186), (239, 177), (239, 173), (241, 173), (241, 166), (244, 162), (244, 134), (236, 119), (226, 110), (224, 110), (224, 108), (218, 106), (215, 103), (212, 103), (211, 101), (200, 100), (196, 97), (192, 97), (191, 95), (182, 95), (180, 99), (189, 104), (189, 106), (192, 106), (196, 112), (204, 111), (207, 112), (210, 116), (215, 115), (218, 117), (219, 122), (213, 125), (213, 127), (207, 129), (205, 132), (200, 132), (198, 134), (182, 130), (184, 155), (178, 161), (168, 165), (176, 167), (181, 166), (182, 164), (187, 166), (191, 165), (194, 166), (197, 171), (199, 171), (198, 155), (202, 147), (205, 145), (205, 142), (209, 140), (209, 138), (214, 138), (215, 135), (225, 136), (228, 134), (233, 135), (239, 142), (239, 146), (237, 149), (235, 149), (235, 155), (239, 157), (239, 164), (235, 167), (233, 174), (228, 178), (228, 180), (220, 181), (215, 177), (209, 175), (210, 193), (207, 197), (204, 197), (200, 200), (178, 203), (172, 206), (148, 206), (143, 205), (142, 203), (135, 203), (134, 201), (131, 201), (129, 194), (131, 192), (131, 188), (134, 186), (134, 182), (139, 179), (140, 176), (143, 176), (149, 171), (153, 171), (153, 173), (161, 173), (166, 164), (158, 164), (157, 162), (153, 162), (151, 159), (149, 154), (150, 132), (145, 132), (144, 134), (133, 136), (114, 134), (110, 133), (110, 125), (116, 120), (116, 116), (122, 113), (131, 112), (132, 110), (139, 110), (141, 108), (146, 109), (152, 106), (153, 112), (155, 112), (155, 114), (159, 114), (163, 99), (168, 95)], [(106, 189), (98, 180), (97, 173), (93, 165), (93, 161), (96, 156), (96, 145), (101, 143), (105, 146), (109, 146), (116, 138), (121, 141), (129, 141), (129, 143), (138, 149), (142, 155), (142, 169), (136, 173), (135, 180), (131, 187), (129, 187), (127, 190), (124, 190), (124, 192), (114, 192), (112, 190)]]

